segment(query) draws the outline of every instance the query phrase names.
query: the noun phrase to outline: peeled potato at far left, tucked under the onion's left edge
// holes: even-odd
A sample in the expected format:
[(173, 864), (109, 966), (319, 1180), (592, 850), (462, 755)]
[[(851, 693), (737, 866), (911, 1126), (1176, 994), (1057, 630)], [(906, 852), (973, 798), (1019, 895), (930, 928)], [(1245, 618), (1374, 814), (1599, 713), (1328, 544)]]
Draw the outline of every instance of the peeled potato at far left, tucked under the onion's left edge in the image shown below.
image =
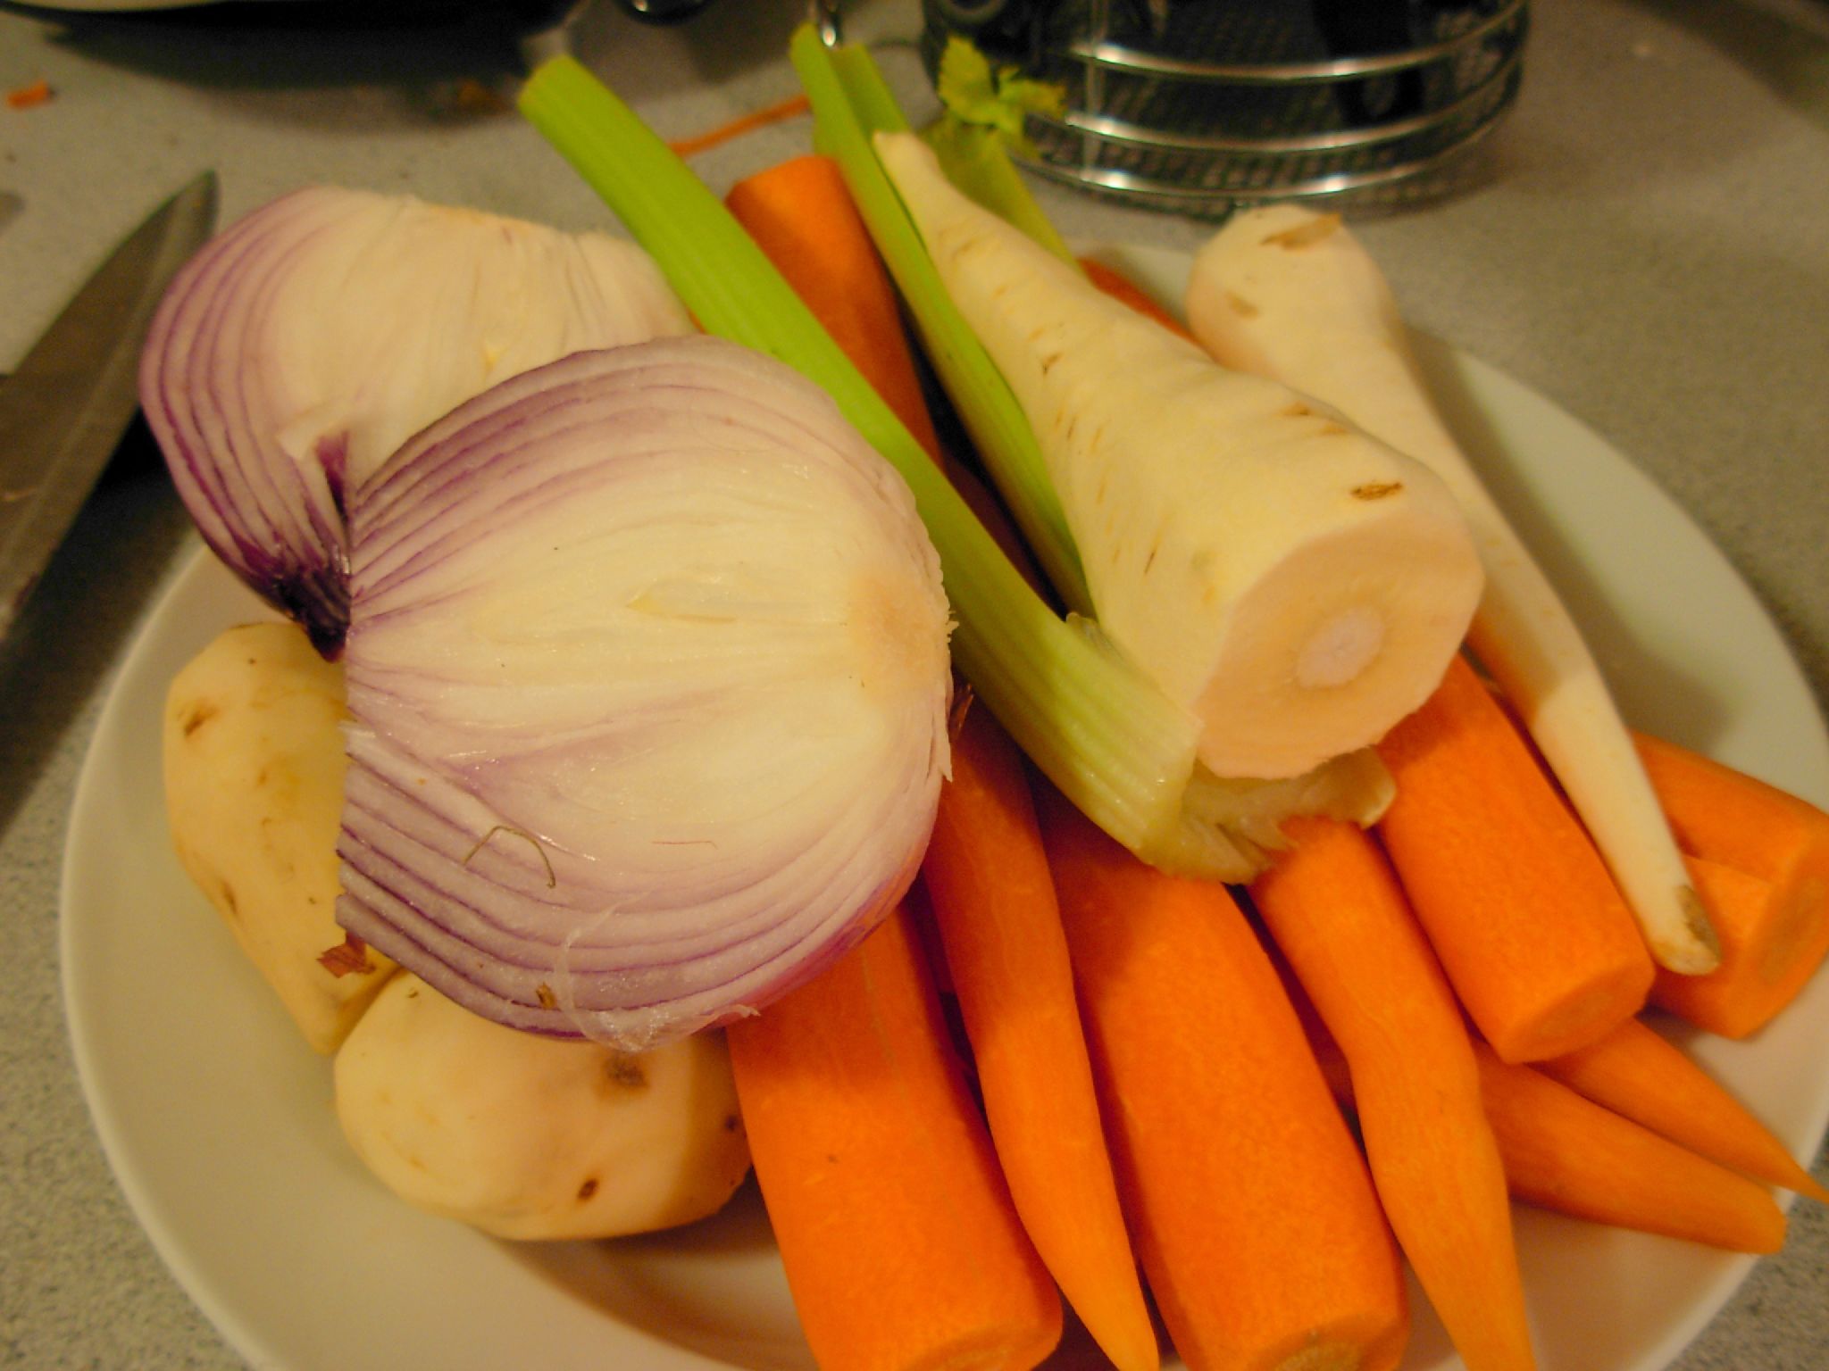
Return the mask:
[(342, 824), (342, 669), (293, 623), (229, 629), (165, 698), (165, 810), (177, 859), (305, 1040), (337, 1051), (393, 963), (333, 974)]

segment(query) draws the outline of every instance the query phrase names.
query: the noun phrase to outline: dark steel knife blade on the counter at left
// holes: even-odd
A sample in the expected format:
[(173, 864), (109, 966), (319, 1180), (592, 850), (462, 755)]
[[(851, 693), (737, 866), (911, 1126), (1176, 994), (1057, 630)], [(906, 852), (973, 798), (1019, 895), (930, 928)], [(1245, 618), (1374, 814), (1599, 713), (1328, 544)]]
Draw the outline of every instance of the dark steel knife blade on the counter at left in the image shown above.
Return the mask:
[(214, 228), (205, 172), (113, 250), (0, 386), (0, 638), (126, 433), (152, 314)]

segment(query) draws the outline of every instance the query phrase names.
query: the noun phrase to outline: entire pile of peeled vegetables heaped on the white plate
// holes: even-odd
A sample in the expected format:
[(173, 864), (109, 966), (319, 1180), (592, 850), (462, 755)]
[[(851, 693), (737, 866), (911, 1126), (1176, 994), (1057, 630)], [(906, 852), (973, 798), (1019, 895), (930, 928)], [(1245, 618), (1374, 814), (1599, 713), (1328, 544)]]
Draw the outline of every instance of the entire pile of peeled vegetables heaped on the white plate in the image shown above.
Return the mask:
[(830, 155), (728, 208), (536, 71), (653, 254), (551, 356), (421, 384), (390, 333), (209, 409), (280, 393), (229, 263), (337, 196), (155, 333), (174, 477), (294, 618), (174, 682), (174, 839), (353, 1148), (505, 1238), (754, 1163), (825, 1371), (1026, 1371), (1063, 1298), (1121, 1371), (1150, 1303), (1193, 1371), (1394, 1367), (1405, 1265), (1522, 1371), (1514, 1199), (1776, 1250), (1769, 1186), (1829, 1192), (1641, 1015), (1781, 1013), (1829, 815), (1626, 731), (1346, 228), (1235, 216), (1187, 331), (1064, 256), (995, 79), (936, 155), (867, 53), (794, 60)]

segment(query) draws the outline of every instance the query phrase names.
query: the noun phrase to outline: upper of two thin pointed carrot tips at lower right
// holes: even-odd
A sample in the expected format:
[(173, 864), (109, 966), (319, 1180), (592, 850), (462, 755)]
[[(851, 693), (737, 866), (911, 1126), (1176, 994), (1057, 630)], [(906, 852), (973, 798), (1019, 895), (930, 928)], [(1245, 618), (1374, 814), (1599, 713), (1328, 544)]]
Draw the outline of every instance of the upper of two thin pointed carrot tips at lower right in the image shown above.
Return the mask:
[(1613, 1113), (1736, 1172), (1829, 1203), (1824, 1190), (1747, 1108), (1648, 1024), (1633, 1018), (1538, 1069)]

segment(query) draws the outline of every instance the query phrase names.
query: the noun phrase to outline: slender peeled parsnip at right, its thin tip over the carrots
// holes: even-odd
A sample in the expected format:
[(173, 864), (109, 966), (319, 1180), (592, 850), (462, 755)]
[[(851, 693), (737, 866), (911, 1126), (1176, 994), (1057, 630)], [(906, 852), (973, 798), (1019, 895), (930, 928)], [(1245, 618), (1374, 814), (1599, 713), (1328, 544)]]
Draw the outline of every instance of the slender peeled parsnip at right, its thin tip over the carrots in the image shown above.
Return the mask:
[(1227, 367), (1280, 380), (1425, 462), (1460, 501), (1485, 563), (1469, 645), (1606, 857), (1659, 965), (1719, 962), (1708, 916), (1580, 629), (1441, 422), (1383, 272), (1337, 216), (1233, 216), (1194, 260), (1194, 336)]

